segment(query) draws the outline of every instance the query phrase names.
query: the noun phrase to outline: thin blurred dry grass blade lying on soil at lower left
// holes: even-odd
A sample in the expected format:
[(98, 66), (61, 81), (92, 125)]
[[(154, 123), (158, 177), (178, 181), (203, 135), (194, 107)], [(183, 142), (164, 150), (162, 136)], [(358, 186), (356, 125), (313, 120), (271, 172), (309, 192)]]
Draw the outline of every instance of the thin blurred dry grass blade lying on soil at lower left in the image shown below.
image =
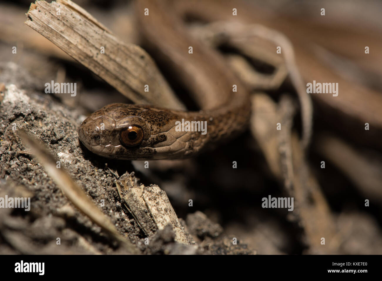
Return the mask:
[(110, 219), (102, 213), (96, 205), (86, 196), (86, 194), (81, 190), (81, 188), (74, 183), (68, 173), (60, 168), (58, 169), (56, 160), (49, 153), (47, 148), (44, 147), (40, 141), (36, 138), (28, 135), (24, 130), (18, 131), (19, 136), (24, 141), (25, 145), (31, 149), (32, 153), (36, 156), (37, 160), (44, 167), (47, 174), (52, 177), (54, 182), (61, 188), (65, 196), (73, 203), (76, 208), (82, 211), (86, 216), (88, 216), (94, 223), (102, 227), (107, 231), (112, 237), (114, 237), (118, 242), (121, 242), (130, 253), (138, 253), (138, 249), (131, 244), (127, 239), (125, 239), (117, 231), (115, 226), (110, 222)]

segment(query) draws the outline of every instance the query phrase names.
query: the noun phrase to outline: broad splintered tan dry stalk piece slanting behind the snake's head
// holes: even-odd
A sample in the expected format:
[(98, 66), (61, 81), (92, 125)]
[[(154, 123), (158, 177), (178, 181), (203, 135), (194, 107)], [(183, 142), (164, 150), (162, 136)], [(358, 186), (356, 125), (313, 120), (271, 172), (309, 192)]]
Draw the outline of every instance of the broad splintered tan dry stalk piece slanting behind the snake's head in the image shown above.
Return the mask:
[[(25, 23), (135, 103), (185, 109), (141, 47), (125, 44), (71, 1), (32, 3)], [(148, 87), (148, 88), (147, 88)]]

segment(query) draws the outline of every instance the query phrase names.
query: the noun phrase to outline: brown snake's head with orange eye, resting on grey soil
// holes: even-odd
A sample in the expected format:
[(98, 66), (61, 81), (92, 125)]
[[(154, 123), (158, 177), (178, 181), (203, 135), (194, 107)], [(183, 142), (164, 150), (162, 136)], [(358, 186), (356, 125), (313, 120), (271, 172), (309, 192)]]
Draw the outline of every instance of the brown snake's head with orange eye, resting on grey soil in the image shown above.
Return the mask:
[(164, 159), (171, 156), (171, 149), (185, 146), (176, 143), (185, 134), (175, 132), (178, 119), (166, 109), (110, 104), (82, 122), (78, 137), (87, 149), (107, 158)]

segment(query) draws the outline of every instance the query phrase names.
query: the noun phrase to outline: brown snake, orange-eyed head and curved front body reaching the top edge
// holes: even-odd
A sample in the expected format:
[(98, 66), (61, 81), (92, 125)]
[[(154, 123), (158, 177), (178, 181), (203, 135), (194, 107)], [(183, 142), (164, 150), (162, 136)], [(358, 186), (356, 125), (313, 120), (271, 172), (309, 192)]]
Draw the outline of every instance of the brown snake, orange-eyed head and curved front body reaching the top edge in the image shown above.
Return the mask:
[[(145, 8), (149, 16), (143, 15)], [(162, 1), (137, 1), (137, 14), (142, 42), (186, 86), (201, 110), (109, 104), (81, 123), (83, 145), (113, 159), (182, 159), (243, 132), (251, 115), (249, 91), (222, 54), (189, 36), (181, 18), (168, 13)]]

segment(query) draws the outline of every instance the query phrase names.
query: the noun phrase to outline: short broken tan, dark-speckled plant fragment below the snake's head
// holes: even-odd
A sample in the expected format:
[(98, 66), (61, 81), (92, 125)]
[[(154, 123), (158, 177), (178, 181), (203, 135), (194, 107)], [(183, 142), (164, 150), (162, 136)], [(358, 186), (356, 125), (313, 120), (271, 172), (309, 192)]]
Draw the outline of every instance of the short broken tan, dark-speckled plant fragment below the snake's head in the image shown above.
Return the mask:
[(147, 236), (152, 236), (157, 229), (171, 224), (175, 232), (175, 241), (189, 244), (187, 236), (166, 192), (158, 185), (138, 185), (133, 173), (125, 173), (115, 183), (118, 193), (129, 212)]

